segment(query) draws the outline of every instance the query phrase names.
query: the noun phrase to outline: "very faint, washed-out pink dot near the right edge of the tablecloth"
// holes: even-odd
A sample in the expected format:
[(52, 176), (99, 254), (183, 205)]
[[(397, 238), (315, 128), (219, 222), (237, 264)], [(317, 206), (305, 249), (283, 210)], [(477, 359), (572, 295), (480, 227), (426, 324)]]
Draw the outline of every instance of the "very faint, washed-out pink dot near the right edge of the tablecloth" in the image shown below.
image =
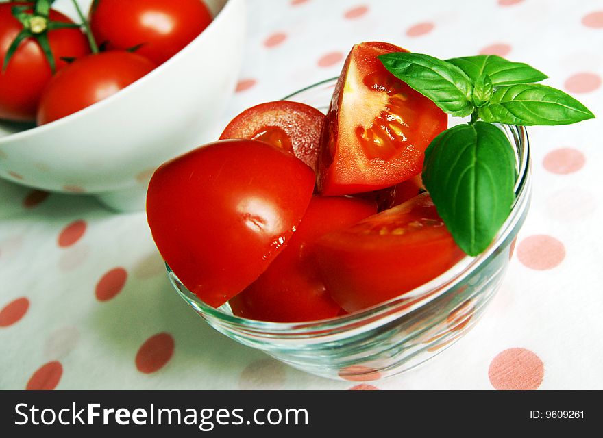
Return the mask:
[(594, 196), (580, 188), (563, 188), (547, 199), (550, 216), (561, 222), (578, 222), (595, 211)]

